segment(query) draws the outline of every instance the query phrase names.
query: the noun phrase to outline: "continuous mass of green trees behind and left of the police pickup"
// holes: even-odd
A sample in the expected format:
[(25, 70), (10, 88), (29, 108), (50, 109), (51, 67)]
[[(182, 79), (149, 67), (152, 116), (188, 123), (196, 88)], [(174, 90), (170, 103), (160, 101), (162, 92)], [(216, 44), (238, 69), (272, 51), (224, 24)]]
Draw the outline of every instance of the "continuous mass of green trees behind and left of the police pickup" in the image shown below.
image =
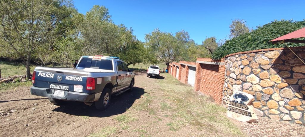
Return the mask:
[(132, 28), (114, 24), (104, 6), (94, 5), (86, 15), (69, 0), (4, 0), (0, 6), (0, 56), (28, 64), (27, 76), (30, 61), (71, 67), (82, 55), (100, 54), (118, 56), (127, 65), (148, 62)]

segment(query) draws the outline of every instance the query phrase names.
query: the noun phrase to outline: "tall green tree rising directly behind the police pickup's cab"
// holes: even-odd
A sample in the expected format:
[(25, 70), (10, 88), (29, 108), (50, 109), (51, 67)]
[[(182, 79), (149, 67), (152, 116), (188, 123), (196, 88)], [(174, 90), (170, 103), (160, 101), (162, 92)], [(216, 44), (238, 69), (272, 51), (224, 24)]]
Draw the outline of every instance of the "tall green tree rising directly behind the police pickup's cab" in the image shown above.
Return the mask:
[(84, 16), (84, 23), (80, 26), (84, 40), (85, 54), (112, 54), (120, 39), (120, 26), (112, 23), (108, 9), (94, 5)]

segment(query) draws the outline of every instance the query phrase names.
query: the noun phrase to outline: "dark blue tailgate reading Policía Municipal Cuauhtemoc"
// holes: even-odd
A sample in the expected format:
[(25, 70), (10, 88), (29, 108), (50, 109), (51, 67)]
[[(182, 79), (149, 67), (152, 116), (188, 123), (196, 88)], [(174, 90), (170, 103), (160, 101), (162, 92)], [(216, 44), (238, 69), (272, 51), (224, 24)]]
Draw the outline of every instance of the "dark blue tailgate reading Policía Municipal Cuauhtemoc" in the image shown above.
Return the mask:
[(75, 68), (35, 68), (33, 86), (65, 91), (86, 92), (87, 72)]

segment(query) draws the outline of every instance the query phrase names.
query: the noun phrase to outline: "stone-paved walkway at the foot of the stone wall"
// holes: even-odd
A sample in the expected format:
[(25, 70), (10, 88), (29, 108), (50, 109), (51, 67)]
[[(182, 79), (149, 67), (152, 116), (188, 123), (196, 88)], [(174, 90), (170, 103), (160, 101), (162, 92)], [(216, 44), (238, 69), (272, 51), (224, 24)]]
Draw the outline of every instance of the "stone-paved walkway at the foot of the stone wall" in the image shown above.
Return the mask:
[(239, 122), (249, 137), (305, 137), (305, 126), (259, 117), (258, 123)]

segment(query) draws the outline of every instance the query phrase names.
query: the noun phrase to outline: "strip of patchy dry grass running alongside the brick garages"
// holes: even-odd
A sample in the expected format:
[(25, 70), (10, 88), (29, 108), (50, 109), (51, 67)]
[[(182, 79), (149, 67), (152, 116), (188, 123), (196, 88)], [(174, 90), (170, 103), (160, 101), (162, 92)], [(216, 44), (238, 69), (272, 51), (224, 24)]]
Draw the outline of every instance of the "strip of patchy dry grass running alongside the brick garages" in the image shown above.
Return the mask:
[(207, 96), (199, 95), (191, 86), (178, 82), (169, 74), (164, 75), (165, 80), (159, 80), (159, 88), (164, 92), (163, 98), (168, 101), (161, 103), (161, 110), (170, 110), (170, 118), (175, 120), (167, 124), (169, 130), (179, 130), (188, 123), (198, 130), (208, 129), (211, 132), (243, 136), (239, 128), (226, 117), (226, 108), (213, 103)]

